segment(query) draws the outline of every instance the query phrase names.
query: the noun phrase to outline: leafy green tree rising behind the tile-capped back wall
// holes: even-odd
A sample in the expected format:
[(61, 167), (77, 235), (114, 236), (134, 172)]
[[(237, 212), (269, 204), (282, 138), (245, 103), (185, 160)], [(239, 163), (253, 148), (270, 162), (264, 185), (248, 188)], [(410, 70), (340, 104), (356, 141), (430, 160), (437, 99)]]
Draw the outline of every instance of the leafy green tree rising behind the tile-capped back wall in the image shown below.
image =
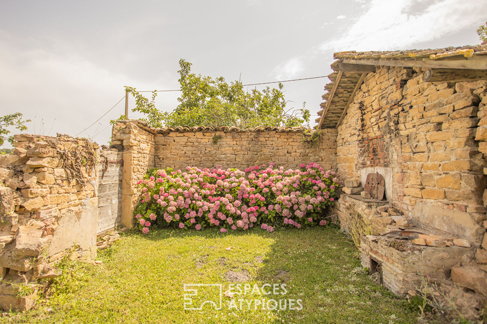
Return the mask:
[(191, 73), (191, 63), (179, 61), (181, 96), (180, 104), (172, 112), (162, 113), (155, 108), (156, 91), (151, 100), (135, 88), (125, 87), (135, 98), (132, 111), (144, 113), (150, 126), (300, 126), (309, 123), (308, 109), (286, 108), (288, 103), (279, 89), (266, 87), (262, 91), (245, 91), (242, 82), (227, 83), (223, 77)]

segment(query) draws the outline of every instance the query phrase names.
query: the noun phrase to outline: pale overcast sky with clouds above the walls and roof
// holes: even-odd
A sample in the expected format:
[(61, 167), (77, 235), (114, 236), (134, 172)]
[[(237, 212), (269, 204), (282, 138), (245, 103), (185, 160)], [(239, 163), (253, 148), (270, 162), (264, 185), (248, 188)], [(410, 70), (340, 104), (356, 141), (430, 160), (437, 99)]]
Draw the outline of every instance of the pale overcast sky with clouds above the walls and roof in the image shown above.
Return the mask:
[[(27, 133), (76, 135), (124, 86), (179, 89), (180, 58), (244, 84), (306, 78), (329, 74), (338, 51), (474, 45), (486, 20), (487, 0), (0, 0), (0, 115), (23, 113)], [(328, 81), (284, 84), (310, 126)], [(170, 111), (177, 97), (160, 93), (156, 106)], [(79, 136), (107, 144), (123, 112), (122, 101)]]

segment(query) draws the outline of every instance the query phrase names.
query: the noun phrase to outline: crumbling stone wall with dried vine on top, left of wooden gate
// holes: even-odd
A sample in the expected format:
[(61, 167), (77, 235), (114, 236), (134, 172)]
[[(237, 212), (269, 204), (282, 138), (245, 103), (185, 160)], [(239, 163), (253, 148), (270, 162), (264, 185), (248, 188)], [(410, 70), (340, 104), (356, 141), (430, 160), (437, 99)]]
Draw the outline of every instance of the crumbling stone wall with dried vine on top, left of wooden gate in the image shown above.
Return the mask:
[(20, 284), (55, 276), (49, 263), (74, 244), (75, 257), (96, 255), (98, 146), (59, 134), (14, 140), (0, 155), (0, 307), (28, 309), (40, 286), (18, 299)]

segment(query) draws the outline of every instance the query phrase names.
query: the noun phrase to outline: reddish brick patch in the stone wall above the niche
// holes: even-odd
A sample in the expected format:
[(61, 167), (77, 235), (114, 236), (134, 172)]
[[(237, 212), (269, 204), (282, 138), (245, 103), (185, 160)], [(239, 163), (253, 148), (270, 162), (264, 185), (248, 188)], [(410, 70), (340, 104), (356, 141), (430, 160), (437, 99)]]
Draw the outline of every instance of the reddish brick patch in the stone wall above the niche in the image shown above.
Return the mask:
[(389, 167), (389, 145), (382, 140), (383, 137), (379, 135), (358, 142), (360, 167)]

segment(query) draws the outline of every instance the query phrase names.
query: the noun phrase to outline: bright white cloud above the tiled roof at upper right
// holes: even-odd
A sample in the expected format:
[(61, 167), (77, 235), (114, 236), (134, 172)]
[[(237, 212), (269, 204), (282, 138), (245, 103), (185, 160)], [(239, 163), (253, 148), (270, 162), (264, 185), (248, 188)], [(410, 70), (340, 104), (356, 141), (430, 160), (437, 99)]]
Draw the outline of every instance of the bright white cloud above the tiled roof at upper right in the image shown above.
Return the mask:
[(408, 13), (414, 6), (423, 5), (422, 0), (372, 0), (362, 16), (320, 49), (405, 49), (412, 43), (431, 41), (483, 21), (487, 0), (439, 0), (420, 12)]

